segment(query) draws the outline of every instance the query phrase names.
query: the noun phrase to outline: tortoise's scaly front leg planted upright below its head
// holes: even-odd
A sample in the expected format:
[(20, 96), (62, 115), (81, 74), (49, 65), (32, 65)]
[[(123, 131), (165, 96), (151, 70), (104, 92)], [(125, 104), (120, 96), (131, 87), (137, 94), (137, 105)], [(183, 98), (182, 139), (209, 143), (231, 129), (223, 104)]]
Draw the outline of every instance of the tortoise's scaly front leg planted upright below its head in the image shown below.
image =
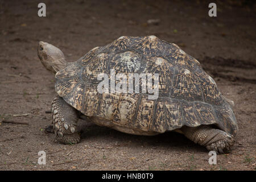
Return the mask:
[(52, 123), (56, 139), (63, 144), (80, 142), (80, 134), (76, 129), (79, 111), (68, 105), (63, 98), (57, 96), (52, 101)]

